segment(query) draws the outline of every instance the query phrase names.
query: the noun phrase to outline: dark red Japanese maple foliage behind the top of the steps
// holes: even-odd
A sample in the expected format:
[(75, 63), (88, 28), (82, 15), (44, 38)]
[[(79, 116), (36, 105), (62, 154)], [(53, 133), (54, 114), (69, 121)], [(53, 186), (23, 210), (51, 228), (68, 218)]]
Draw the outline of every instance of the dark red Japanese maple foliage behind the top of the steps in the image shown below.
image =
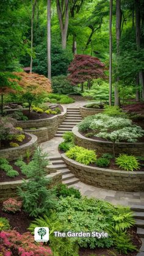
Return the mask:
[(97, 58), (84, 54), (76, 54), (68, 67), (68, 79), (73, 86), (96, 78), (105, 78), (105, 65)]

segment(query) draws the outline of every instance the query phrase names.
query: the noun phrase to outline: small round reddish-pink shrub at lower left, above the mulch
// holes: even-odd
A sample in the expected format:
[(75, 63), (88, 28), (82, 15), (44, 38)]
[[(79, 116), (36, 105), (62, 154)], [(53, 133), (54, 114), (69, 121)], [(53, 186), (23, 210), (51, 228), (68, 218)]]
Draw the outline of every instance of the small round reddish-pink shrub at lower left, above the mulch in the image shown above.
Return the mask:
[(16, 213), (21, 211), (22, 202), (17, 201), (16, 199), (9, 198), (8, 200), (4, 201), (2, 204), (2, 210), (6, 211), (7, 213)]

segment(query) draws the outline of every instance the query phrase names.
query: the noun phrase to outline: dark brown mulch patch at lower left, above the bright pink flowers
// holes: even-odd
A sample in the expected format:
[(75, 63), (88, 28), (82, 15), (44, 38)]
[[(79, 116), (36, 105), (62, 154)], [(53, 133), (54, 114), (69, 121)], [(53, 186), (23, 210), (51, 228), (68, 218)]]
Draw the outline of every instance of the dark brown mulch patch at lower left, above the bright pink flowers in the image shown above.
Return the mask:
[(30, 218), (29, 214), (25, 213), (23, 210), (15, 214), (5, 213), (5, 211), (2, 211), (2, 203), (0, 203), (0, 216), (9, 219), (12, 229), (15, 229), (21, 234), (28, 231), (27, 228), (31, 221), (34, 220), (34, 218)]

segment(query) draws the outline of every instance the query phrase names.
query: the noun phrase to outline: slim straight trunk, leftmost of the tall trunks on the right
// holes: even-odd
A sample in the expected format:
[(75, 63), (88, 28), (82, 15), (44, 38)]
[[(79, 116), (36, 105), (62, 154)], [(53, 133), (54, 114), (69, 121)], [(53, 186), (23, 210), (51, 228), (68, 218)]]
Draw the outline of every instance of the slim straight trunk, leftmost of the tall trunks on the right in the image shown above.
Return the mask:
[(109, 13), (109, 105), (112, 106), (112, 4), (110, 0)]

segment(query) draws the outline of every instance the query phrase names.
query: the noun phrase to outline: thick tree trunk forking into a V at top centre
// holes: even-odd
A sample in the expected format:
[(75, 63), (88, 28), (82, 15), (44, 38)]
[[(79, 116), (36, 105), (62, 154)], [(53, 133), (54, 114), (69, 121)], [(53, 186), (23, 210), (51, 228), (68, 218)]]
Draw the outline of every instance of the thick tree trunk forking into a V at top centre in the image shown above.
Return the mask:
[(60, 0), (56, 0), (57, 15), (58, 15), (58, 18), (59, 18), (60, 31), (61, 31), (61, 37), (62, 37), (62, 48), (63, 49), (65, 49), (66, 46), (67, 46), (68, 1), (69, 0), (61, 1), (61, 6), (60, 6)]

